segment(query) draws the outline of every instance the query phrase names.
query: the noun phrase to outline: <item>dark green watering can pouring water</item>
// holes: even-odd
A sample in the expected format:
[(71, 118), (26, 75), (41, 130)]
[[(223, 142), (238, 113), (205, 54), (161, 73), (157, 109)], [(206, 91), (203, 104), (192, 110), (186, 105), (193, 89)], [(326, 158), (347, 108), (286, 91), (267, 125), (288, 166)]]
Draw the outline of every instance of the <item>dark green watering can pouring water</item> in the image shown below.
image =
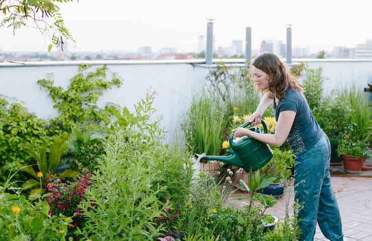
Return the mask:
[[(261, 119), (263, 126), (263, 133), (267, 133), (266, 123)], [(250, 125), (250, 122), (247, 122), (240, 127), (247, 127)], [(261, 130), (258, 127), (249, 128), (250, 131), (261, 133)], [(249, 172), (256, 171), (266, 165), (272, 158), (273, 154), (270, 147), (257, 141), (251, 137), (245, 137), (237, 142), (233, 142), (234, 132), (231, 133), (229, 138), (230, 147), (232, 150), (226, 150), (229, 153), (229, 156), (204, 156), (200, 154), (195, 155), (201, 159), (215, 160), (225, 162), (240, 168), (243, 168), (245, 171)]]

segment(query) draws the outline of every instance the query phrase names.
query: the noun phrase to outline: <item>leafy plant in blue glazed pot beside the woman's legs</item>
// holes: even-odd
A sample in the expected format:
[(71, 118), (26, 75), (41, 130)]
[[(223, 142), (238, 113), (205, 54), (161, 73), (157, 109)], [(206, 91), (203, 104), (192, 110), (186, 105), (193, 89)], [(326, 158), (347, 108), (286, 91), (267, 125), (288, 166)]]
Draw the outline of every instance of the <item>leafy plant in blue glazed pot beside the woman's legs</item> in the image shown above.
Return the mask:
[(295, 155), (290, 150), (282, 151), (278, 148), (273, 148), (272, 151), (274, 156), (266, 166), (261, 168), (260, 172), (264, 178), (274, 178), (274, 182), (262, 189), (261, 193), (281, 197), (284, 193), (284, 183), (291, 176)]

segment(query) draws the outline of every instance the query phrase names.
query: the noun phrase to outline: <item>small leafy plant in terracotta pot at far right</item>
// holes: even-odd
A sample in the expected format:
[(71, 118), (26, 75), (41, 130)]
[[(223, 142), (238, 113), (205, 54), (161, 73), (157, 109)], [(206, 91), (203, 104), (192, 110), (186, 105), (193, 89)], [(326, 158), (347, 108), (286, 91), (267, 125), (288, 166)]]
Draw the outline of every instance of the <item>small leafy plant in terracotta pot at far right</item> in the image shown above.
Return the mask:
[(368, 146), (362, 141), (353, 142), (348, 136), (338, 146), (338, 153), (343, 160), (347, 173), (360, 173), (363, 161), (367, 157)]

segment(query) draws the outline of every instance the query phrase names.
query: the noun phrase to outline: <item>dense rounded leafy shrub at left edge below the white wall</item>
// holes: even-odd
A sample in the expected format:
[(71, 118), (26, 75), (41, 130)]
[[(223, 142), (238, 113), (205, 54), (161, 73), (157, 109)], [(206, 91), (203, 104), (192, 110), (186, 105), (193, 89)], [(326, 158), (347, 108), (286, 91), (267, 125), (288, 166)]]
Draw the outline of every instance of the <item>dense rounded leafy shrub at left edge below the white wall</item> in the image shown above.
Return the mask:
[[(47, 138), (47, 123), (20, 103), (0, 98), (0, 182), (16, 163), (31, 164), (28, 148), (39, 149)], [(18, 180), (25, 180), (17, 175)]]

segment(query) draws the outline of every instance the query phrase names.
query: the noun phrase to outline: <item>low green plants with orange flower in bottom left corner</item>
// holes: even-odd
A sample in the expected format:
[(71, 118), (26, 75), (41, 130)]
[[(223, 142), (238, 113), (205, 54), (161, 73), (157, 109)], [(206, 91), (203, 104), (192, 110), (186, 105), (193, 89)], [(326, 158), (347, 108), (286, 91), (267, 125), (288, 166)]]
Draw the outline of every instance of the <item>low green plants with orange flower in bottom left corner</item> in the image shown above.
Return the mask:
[(14, 190), (12, 185), (17, 181), (11, 180), (18, 171), (9, 175), (5, 185), (0, 186), (0, 239), (65, 240), (71, 218), (49, 216), (49, 206), (42, 198), (30, 202), (23, 195), (6, 192), (7, 189)]

